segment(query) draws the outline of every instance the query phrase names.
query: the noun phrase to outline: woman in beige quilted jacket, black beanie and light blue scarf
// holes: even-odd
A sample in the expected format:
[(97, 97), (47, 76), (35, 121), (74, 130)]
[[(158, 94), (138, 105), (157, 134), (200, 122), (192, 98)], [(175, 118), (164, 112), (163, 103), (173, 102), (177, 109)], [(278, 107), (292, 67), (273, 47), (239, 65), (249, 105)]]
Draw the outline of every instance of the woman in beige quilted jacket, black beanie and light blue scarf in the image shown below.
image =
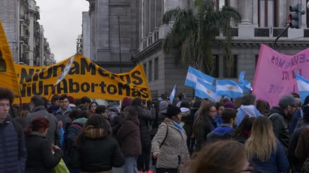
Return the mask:
[(158, 159), (157, 173), (182, 172), (184, 165), (190, 160), (187, 135), (182, 124), (180, 108), (169, 105), (167, 118), (160, 124), (151, 143), (152, 157)]

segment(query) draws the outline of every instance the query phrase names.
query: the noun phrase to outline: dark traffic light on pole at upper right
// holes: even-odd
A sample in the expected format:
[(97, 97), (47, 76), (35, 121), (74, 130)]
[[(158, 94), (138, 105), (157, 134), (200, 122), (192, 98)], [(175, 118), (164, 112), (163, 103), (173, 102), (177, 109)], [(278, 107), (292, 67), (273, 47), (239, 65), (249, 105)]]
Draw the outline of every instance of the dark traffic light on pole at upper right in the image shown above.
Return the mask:
[(301, 15), (306, 13), (304, 10), (301, 11), (301, 4), (290, 6), (290, 12), (293, 12), (289, 15), (290, 27), (296, 29), (301, 28)]

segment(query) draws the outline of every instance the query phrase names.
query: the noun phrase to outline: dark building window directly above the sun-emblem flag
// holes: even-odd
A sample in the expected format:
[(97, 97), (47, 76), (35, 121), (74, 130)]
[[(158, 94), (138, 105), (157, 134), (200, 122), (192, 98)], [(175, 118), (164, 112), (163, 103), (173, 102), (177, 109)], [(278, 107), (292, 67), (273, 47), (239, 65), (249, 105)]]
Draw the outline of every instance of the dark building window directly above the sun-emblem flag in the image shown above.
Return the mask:
[(224, 76), (226, 78), (237, 78), (237, 55), (231, 60), (224, 56)]

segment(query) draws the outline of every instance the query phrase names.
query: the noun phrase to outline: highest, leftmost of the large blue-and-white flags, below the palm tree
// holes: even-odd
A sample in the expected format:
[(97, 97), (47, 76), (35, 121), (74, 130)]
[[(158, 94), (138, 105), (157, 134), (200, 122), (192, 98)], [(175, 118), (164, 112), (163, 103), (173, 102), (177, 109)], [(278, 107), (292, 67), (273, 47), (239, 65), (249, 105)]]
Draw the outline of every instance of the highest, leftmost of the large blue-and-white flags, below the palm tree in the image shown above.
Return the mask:
[(202, 73), (201, 71), (189, 66), (186, 81), (184, 81), (184, 85), (191, 86), (196, 89), (197, 79), (205, 83), (212, 84), (215, 80), (214, 77), (208, 76), (207, 74)]

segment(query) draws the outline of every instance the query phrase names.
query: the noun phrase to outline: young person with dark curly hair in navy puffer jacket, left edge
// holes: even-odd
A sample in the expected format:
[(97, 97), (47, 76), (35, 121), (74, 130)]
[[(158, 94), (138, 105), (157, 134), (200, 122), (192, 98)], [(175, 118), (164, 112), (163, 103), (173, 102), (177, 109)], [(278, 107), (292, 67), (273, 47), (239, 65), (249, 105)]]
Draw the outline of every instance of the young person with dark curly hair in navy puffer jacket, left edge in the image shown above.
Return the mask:
[(0, 172), (22, 173), (27, 159), (23, 130), (9, 115), (15, 97), (0, 87)]

